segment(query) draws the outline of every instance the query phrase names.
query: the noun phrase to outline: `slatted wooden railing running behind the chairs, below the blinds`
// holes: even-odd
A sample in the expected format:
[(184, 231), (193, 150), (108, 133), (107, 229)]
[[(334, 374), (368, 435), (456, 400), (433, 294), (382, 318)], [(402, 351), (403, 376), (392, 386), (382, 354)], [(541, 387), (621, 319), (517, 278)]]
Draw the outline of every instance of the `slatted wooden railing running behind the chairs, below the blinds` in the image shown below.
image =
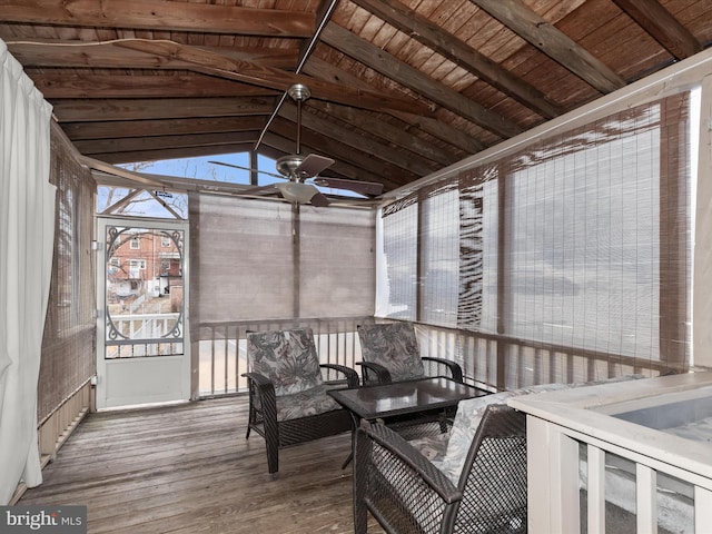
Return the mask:
[[(359, 372), (359, 366), (355, 365), (360, 360), (356, 327), (374, 320), (382, 319), (347, 317), (202, 324), (197, 329), (198, 340), (192, 344), (194, 352), (198, 352), (200, 395), (246, 390), (247, 384), (240, 375), (247, 370), (248, 330), (309, 326), (314, 330), (322, 363), (342, 364)], [(466, 382), (491, 390), (554, 382), (591, 382), (633, 373), (657, 376), (669, 370), (664, 362), (655, 359), (544, 346), (506, 336), (423, 324), (416, 325), (416, 333), (422, 355), (457, 362), (463, 367)]]

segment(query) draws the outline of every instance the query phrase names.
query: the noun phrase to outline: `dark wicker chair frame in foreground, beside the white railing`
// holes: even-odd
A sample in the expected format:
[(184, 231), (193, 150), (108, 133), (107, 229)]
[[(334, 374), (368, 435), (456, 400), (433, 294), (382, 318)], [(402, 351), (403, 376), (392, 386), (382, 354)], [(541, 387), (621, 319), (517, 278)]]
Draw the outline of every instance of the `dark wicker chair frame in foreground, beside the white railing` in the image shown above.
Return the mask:
[(438, 468), (383, 424), (363, 422), (354, 462), (354, 532), (367, 513), (389, 533), (525, 533), (526, 416), (491, 404), (462, 472)]

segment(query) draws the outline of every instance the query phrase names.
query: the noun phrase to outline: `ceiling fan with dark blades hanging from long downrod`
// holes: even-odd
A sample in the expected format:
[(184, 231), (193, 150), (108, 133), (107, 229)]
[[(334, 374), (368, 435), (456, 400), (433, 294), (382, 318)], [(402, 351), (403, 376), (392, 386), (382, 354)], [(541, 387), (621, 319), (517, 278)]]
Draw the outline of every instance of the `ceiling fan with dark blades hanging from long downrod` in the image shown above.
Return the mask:
[[(309, 88), (304, 83), (295, 83), (287, 90), (287, 93), (297, 103), (296, 152), (283, 156), (277, 160), (276, 167), (279, 172), (278, 175), (258, 169), (257, 172), (280, 179), (287, 179), (288, 181), (246, 189), (243, 191), (243, 195), (268, 195), (277, 192), (290, 202), (312, 204), (317, 207), (328, 206), (330, 200), (326, 195), (319, 191), (316, 186), (348, 189), (366, 197), (376, 197), (380, 195), (383, 192), (383, 185), (375, 181), (358, 181), (318, 176), (319, 172), (334, 165), (334, 160), (316, 154), (309, 154), (308, 156), (300, 154), (301, 102), (310, 97)], [(241, 167), (239, 165), (226, 164), (222, 161), (210, 161), (210, 164), (244, 170), (256, 170), (250, 169), (249, 167)], [(306, 180), (309, 180), (309, 182)]]

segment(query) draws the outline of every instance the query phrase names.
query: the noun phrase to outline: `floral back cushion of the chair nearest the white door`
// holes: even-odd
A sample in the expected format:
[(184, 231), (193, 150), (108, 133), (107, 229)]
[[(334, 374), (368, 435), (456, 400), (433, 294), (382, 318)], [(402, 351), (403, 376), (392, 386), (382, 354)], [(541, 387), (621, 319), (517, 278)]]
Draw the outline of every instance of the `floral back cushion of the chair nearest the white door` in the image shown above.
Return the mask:
[(277, 397), (323, 383), (312, 328), (247, 334), (247, 362), (253, 373), (271, 380)]

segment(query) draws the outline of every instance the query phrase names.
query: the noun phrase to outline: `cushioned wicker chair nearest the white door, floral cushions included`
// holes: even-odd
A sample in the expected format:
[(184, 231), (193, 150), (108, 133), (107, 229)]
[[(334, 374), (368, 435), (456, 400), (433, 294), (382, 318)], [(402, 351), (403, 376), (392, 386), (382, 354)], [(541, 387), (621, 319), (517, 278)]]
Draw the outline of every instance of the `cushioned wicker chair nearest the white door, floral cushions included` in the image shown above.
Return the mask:
[[(348, 412), (326, 392), (358, 387), (358, 374), (343, 365), (319, 364), (310, 328), (248, 333), (247, 362), (246, 438), (250, 431), (265, 438), (273, 477), (279, 471), (280, 448), (352, 429)], [(335, 377), (340, 380), (328, 380)]]

